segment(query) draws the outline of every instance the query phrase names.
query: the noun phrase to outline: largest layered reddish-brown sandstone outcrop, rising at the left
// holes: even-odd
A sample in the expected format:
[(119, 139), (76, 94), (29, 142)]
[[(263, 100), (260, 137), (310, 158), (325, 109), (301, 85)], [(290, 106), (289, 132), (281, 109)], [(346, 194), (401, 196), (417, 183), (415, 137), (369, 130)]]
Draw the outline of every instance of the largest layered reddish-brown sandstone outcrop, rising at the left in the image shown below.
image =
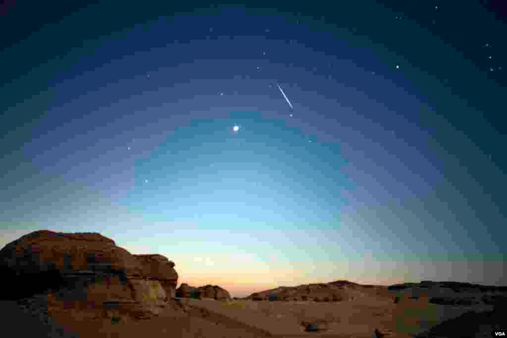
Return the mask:
[(0, 250), (0, 298), (45, 293), (53, 305), (87, 306), (150, 318), (174, 294), (174, 263), (133, 255), (98, 233), (35, 231)]

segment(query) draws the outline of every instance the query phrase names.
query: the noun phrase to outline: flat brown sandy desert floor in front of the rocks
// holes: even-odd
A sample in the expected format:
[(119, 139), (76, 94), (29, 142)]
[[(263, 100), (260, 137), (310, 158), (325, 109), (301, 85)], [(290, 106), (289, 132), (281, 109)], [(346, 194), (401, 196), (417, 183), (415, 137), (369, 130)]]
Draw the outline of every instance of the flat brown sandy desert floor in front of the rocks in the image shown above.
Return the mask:
[[(466, 311), (491, 310), (488, 306), (456, 308), (433, 305), (428, 303), (427, 296), (418, 300), (405, 297), (400, 303), (393, 304), (394, 294), (384, 289), (353, 292), (355, 296), (352, 301), (330, 303), (183, 299), (187, 312), (167, 307), (159, 316), (147, 320), (134, 320), (120, 315), (119, 321), (113, 321), (111, 316), (107, 317), (100, 311), (62, 307), (50, 308), (49, 314), (60, 327), (79, 334), (81, 338), (370, 338), (375, 328), (385, 332), (386, 337), (412, 337), (413, 333)], [(328, 321), (327, 332), (305, 332), (300, 325), (301, 321), (317, 319)], [(23, 317), (23, 320), (29, 323), (27, 318)]]

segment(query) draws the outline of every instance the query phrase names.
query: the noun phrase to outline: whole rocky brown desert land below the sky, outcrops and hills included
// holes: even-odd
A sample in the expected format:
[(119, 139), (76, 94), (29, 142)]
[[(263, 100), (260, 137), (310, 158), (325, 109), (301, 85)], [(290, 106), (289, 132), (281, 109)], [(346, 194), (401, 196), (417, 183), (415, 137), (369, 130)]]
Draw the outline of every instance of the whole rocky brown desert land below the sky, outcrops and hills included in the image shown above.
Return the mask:
[(98, 233), (22, 236), (0, 250), (2, 336), (468, 338), (490, 336), (507, 313), (505, 286), (336, 280), (238, 299), (218, 285), (176, 288), (174, 267)]

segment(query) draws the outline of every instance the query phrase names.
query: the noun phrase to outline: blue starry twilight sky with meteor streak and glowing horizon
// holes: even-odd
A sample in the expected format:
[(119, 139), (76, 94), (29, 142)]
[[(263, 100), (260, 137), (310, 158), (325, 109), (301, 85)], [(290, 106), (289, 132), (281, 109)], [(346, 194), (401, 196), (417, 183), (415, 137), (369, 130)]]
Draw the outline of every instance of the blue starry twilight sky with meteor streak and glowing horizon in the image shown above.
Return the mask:
[(60, 3), (0, 5), (0, 246), (99, 232), (233, 295), (507, 285), (500, 1)]

